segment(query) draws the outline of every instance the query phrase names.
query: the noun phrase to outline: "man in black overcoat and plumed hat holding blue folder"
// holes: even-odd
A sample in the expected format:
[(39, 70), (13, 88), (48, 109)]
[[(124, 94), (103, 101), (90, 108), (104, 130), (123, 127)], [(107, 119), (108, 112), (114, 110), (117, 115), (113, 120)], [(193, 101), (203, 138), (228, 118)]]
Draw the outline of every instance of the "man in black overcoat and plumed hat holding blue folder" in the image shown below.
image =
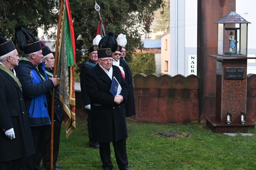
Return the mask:
[[(113, 39), (108, 34), (101, 40)], [(115, 40), (116, 42), (116, 40)], [(114, 44), (115, 44), (114, 42)], [(113, 44), (113, 43), (112, 43)], [(112, 66), (112, 52), (115, 47), (102, 48), (101, 41), (98, 49), (98, 64), (86, 72), (86, 90), (91, 100), (91, 125), (93, 140), (100, 145), (100, 158), (103, 170), (113, 169), (111, 162), (110, 142), (113, 143), (116, 162), (120, 170), (130, 170), (126, 154), (126, 117), (124, 103), (128, 96), (128, 84), (120, 73), (120, 69)], [(112, 80), (116, 79), (122, 87), (120, 94), (115, 96), (110, 92)], [(118, 86), (117, 85), (117, 86)], [(112, 85), (115, 89), (116, 84)], [(118, 87), (116, 87), (116, 90)], [(114, 90), (115, 91), (115, 90)]]

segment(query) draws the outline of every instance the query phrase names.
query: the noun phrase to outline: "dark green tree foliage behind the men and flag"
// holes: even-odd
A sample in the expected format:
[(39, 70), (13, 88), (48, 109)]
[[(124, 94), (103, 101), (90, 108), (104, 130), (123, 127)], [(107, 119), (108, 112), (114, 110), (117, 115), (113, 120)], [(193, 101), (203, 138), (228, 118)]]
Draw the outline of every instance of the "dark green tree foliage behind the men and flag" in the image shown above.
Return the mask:
[[(88, 60), (86, 51), (97, 33), (99, 14), (95, 0), (69, 0), (76, 43), (76, 72)], [(136, 49), (143, 49), (141, 36), (150, 32), (155, 11), (163, 9), (165, 0), (97, 0), (104, 21), (105, 32), (126, 35), (126, 60), (131, 62)], [(56, 39), (60, 0), (0, 0), (0, 33), (14, 40), (14, 27), (21, 24), (34, 36), (38, 28), (44, 35)]]

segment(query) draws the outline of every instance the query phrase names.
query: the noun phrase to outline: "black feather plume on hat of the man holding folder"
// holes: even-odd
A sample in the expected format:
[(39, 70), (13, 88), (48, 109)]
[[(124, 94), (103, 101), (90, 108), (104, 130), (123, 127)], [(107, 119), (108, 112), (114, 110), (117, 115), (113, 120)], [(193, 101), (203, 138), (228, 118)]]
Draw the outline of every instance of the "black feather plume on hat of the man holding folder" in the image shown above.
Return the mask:
[(113, 32), (108, 32), (108, 35), (104, 36), (99, 42), (100, 48), (111, 48), (112, 52), (115, 52), (117, 49), (117, 41), (114, 37)]

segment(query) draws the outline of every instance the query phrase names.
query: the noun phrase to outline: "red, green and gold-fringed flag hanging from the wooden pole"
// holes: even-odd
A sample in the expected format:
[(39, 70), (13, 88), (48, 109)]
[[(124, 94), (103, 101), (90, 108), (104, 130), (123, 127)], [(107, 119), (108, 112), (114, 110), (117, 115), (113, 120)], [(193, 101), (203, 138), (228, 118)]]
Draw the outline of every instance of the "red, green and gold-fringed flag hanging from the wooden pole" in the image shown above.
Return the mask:
[(58, 57), (58, 81), (60, 86), (60, 101), (65, 111), (66, 137), (75, 130), (75, 38), (69, 1), (65, 0), (62, 15), (61, 35)]

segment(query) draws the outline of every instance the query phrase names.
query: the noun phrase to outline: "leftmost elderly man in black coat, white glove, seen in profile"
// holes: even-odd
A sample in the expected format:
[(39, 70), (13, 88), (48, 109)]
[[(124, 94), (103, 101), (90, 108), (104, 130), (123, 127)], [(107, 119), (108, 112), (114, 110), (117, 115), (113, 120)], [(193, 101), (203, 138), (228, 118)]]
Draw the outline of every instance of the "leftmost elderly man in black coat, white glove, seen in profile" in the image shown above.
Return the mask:
[(21, 169), (23, 157), (35, 153), (22, 86), (13, 69), (19, 54), (0, 35), (0, 169)]

